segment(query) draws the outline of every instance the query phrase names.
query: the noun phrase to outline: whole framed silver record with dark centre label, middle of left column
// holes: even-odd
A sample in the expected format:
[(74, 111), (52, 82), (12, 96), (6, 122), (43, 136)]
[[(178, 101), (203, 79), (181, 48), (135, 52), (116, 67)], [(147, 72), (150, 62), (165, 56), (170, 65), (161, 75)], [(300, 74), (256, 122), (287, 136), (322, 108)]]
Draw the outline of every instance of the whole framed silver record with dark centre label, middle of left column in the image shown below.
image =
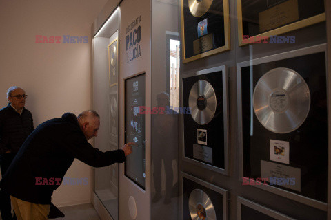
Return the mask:
[(228, 175), (228, 76), (225, 65), (182, 77), (183, 160)]

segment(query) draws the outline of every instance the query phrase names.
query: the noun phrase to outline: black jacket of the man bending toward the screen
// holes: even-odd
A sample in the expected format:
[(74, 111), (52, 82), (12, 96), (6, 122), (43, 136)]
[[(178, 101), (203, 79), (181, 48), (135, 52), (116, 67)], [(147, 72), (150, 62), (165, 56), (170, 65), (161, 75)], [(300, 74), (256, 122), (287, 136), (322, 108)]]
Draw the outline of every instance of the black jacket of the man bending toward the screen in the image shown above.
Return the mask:
[[(90, 166), (108, 166), (124, 162), (122, 150), (105, 153), (93, 148), (79, 127), (76, 116), (65, 113), (62, 118), (43, 122), (31, 133), (17, 153), (0, 187), (23, 201), (49, 204), (74, 158)], [(37, 181), (36, 177), (46, 178)], [(38, 179), (39, 179), (38, 178)], [(50, 179), (53, 178), (53, 182)], [(36, 183), (49, 185), (36, 185)]]

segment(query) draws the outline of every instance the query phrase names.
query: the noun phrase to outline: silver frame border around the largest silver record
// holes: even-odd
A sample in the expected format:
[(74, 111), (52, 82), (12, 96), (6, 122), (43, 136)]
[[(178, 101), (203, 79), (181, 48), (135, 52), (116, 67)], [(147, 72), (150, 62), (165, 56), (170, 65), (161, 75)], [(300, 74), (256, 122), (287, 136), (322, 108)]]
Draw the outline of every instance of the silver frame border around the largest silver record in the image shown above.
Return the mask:
[[(248, 67), (252, 65), (257, 65), (261, 63), (268, 63), (272, 61), (279, 61), (286, 58), (293, 58), (297, 56), (303, 56), (308, 54), (314, 54), (317, 52), (325, 52), (325, 65), (326, 65), (326, 44), (323, 43), (321, 45), (315, 45), (312, 47), (306, 47), (299, 50), (293, 50), (290, 52), (284, 52), (281, 54), (275, 54), (272, 56), (265, 56), (263, 58), (256, 58), (252, 59), (250, 61), (244, 61), (241, 63), (237, 63), (237, 104), (238, 104), (238, 144), (239, 144), (239, 181), (243, 181), (243, 124), (242, 124), (242, 108), (241, 108), (241, 67)], [(327, 82), (328, 82), (328, 70), (325, 72)], [(326, 83), (326, 82), (325, 82)], [(328, 137), (329, 138), (329, 137)], [(328, 146), (328, 151), (330, 152), (330, 146)], [(253, 180), (250, 180), (253, 181)], [(330, 181), (330, 176), (328, 177), (328, 181)], [(254, 183), (257, 183), (257, 181), (254, 181)], [(261, 188), (263, 190), (267, 190), (269, 192), (272, 192), (274, 194), (280, 195), (282, 197), (286, 197), (288, 199), (292, 199), (294, 201), (299, 201), (305, 205), (312, 206), (314, 208), (318, 208), (319, 210), (326, 211), (328, 208), (328, 204), (324, 203), (322, 201), (317, 201), (315, 199), (310, 199), (308, 197), (304, 197), (302, 195), (295, 194), (293, 192), (289, 192), (287, 190), (283, 190), (280, 188), (276, 188), (274, 186), (270, 185), (252, 185), (257, 188)]]

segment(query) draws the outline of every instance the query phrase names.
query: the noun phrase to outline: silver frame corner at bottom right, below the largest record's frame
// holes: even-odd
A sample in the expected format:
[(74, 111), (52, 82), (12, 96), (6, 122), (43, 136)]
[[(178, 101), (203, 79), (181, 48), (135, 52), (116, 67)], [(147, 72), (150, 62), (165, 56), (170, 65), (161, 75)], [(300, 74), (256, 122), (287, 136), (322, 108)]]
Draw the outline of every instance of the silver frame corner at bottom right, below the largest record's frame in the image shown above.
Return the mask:
[(274, 219), (278, 220), (293, 220), (293, 218), (288, 217), (285, 214), (281, 214), (280, 212), (274, 211), (270, 208), (266, 208), (265, 206), (261, 206), (258, 203), (254, 203), (248, 199), (243, 197), (237, 197), (237, 219), (241, 220), (241, 205), (248, 206), (254, 210), (257, 210), (263, 214), (266, 214)]

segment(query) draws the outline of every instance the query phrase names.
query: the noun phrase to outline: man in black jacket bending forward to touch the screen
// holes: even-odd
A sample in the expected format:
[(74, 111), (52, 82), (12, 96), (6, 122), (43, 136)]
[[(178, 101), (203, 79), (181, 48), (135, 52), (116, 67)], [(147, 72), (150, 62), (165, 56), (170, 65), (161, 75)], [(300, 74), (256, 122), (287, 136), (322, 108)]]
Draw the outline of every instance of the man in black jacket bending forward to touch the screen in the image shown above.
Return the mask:
[(132, 153), (134, 143), (105, 153), (93, 148), (88, 140), (97, 136), (99, 126), (97, 112), (84, 111), (78, 118), (65, 113), (43, 122), (31, 133), (0, 182), (10, 193), (19, 220), (47, 219), (53, 191), (75, 158), (101, 167), (124, 162)]

